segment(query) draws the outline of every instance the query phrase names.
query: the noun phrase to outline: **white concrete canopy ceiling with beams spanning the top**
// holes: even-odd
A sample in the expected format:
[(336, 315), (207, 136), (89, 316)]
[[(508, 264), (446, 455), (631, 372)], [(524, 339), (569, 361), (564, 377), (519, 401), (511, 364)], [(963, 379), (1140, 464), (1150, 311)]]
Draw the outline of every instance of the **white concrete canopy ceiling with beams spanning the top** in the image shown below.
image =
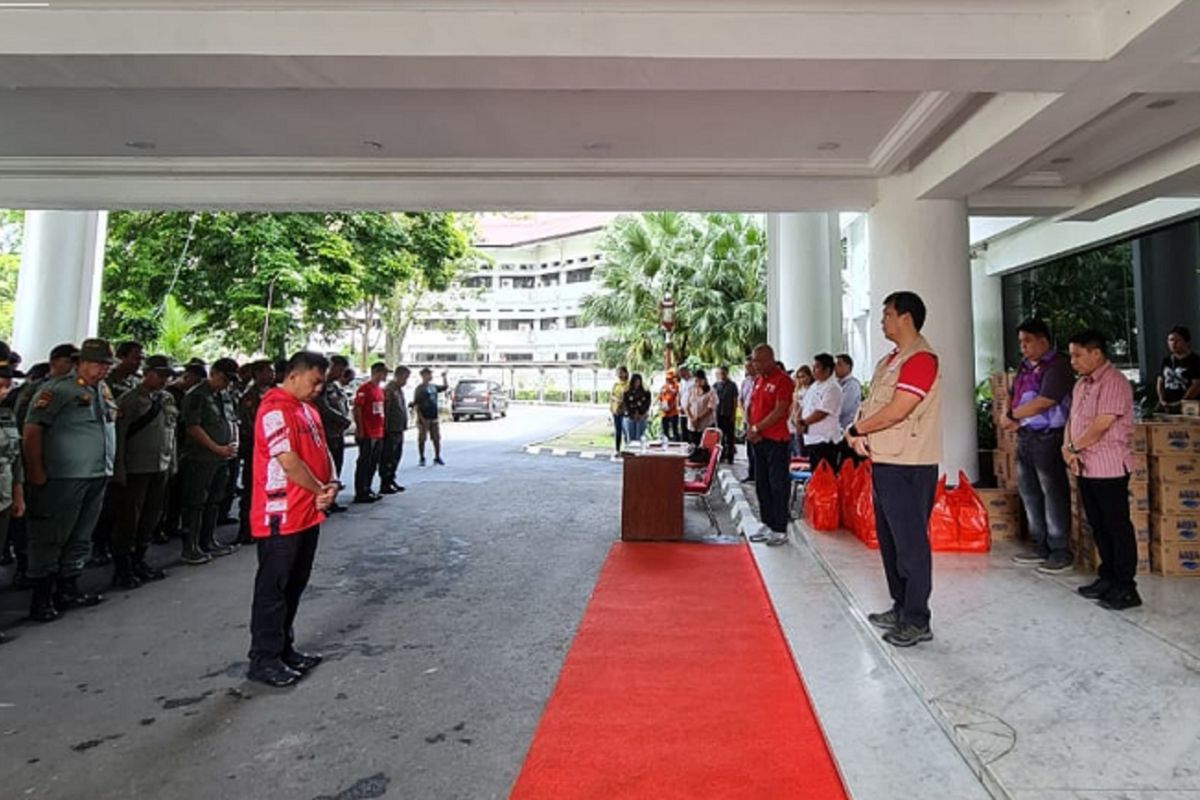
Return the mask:
[(1200, 193), (1200, 0), (0, 2), (0, 205)]

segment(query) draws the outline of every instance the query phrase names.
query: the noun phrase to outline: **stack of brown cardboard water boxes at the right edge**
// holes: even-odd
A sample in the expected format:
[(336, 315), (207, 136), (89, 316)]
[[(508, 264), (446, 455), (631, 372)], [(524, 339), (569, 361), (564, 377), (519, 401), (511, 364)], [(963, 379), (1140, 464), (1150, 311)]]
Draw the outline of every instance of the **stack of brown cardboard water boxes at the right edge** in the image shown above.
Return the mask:
[(1200, 576), (1200, 420), (1160, 417), (1145, 428), (1154, 572)]

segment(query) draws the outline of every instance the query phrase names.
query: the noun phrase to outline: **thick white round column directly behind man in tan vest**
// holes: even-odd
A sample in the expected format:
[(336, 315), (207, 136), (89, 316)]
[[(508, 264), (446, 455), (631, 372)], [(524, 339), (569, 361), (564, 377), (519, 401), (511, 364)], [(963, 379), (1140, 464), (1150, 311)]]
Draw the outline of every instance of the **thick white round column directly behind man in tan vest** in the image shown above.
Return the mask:
[(974, 323), (967, 209), (960, 200), (918, 200), (908, 176), (880, 181), (868, 219), (871, 271), (871, 356), (892, 349), (880, 329), (883, 299), (916, 291), (928, 317), (922, 332), (942, 372), (942, 470), (979, 476), (974, 413)]

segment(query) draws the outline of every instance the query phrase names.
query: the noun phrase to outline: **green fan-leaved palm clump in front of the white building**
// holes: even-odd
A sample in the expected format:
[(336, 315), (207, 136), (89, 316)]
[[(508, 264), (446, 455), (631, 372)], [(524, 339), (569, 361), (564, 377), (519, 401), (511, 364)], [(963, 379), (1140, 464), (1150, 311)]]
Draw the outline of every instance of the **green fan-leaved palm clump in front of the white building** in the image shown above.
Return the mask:
[(734, 213), (673, 211), (618, 217), (601, 242), (601, 289), (583, 319), (610, 327), (598, 355), (610, 367), (654, 369), (665, 335), (659, 303), (676, 301), (676, 362), (740, 361), (766, 338), (766, 234)]

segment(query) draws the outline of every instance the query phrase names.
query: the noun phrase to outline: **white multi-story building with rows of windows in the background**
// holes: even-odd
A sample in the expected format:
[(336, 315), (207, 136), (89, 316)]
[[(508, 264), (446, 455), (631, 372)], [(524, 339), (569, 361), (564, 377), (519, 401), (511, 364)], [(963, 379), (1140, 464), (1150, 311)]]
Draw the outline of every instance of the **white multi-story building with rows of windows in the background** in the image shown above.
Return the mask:
[(581, 305), (599, 285), (600, 240), (616, 216), (481, 217), (475, 247), (490, 260), (430, 295), (404, 337), (402, 360), (594, 366), (606, 329), (584, 325)]

